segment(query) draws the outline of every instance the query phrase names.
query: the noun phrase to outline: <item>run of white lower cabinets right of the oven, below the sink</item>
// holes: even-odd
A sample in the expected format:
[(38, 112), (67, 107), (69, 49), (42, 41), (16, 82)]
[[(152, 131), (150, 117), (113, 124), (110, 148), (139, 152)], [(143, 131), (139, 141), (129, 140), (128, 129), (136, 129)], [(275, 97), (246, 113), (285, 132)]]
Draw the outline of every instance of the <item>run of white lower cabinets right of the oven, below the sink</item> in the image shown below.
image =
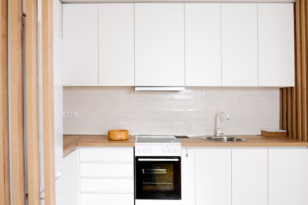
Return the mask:
[(189, 157), (186, 153), (183, 149), (183, 205), (308, 205), (308, 148), (196, 148), (188, 149)]

